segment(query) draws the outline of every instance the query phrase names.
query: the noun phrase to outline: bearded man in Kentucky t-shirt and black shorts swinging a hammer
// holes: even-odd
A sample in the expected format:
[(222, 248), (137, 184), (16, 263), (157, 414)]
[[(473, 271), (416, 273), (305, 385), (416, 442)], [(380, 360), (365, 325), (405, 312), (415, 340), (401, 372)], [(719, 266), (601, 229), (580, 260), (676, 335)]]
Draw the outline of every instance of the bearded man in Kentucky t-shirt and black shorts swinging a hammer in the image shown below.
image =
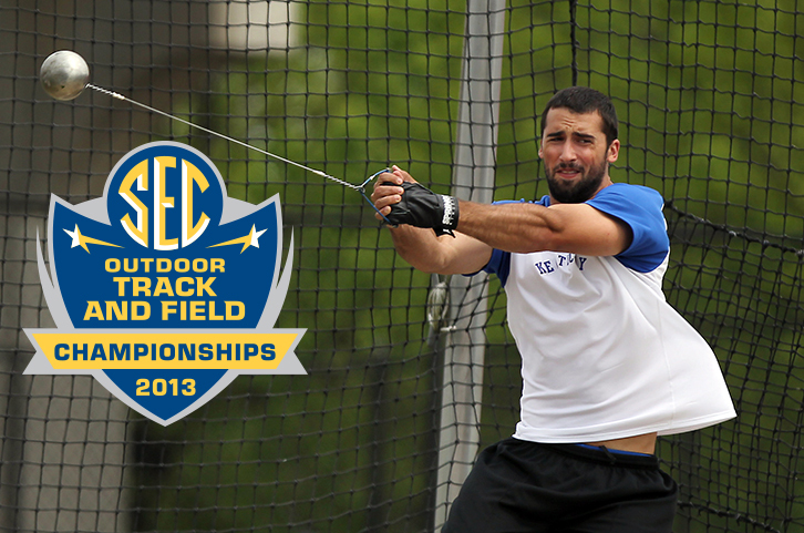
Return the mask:
[(516, 432), (478, 455), (444, 532), (670, 532), (657, 435), (735, 416), (712, 350), (664, 300), (661, 195), (609, 177), (617, 127), (604, 94), (556, 93), (538, 202), (457, 201), (395, 166), (374, 187), (412, 266), (499, 277), (522, 355)]

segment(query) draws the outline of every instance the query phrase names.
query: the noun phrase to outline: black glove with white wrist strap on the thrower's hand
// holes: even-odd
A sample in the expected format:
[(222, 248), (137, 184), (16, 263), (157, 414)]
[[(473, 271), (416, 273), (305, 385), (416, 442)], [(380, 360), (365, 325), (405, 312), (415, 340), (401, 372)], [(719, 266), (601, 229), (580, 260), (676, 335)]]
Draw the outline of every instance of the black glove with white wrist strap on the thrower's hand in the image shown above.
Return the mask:
[(456, 197), (435, 194), (427, 187), (412, 182), (402, 183), (402, 188), (404, 188), (402, 199), (391, 206), (391, 213), (386, 216), (391, 224), (431, 227), (436, 236), (455, 236), (452, 230), (457, 227)]

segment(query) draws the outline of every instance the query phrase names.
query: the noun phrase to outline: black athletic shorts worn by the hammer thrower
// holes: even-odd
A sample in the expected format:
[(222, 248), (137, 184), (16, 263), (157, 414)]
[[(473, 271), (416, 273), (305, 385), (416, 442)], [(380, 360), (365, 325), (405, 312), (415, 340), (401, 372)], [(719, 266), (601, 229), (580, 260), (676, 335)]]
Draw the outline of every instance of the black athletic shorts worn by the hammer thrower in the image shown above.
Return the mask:
[(442, 533), (669, 533), (677, 499), (656, 455), (511, 438), (477, 457)]

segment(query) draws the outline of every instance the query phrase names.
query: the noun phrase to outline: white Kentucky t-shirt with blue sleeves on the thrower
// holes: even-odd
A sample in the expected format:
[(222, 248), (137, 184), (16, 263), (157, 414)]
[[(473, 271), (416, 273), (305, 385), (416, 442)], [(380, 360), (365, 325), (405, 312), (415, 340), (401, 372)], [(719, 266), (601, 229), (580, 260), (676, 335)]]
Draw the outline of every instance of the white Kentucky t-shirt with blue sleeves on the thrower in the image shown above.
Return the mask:
[(505, 286), (522, 355), (514, 437), (595, 442), (680, 433), (735, 417), (712, 349), (664, 299), (661, 195), (614, 184), (587, 203), (631, 227), (627, 250), (614, 257), (494, 250), (485, 268)]

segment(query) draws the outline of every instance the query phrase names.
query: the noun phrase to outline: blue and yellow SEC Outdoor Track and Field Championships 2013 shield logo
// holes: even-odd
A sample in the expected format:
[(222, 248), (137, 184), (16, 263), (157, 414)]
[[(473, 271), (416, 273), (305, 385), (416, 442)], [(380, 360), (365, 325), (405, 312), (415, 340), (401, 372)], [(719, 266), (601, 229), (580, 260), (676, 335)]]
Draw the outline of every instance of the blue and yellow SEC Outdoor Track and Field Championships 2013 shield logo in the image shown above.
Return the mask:
[(25, 334), (25, 373), (89, 373), (147, 418), (168, 424), (240, 373), (306, 373), (303, 335), (276, 330), (292, 265), (279, 275), (277, 197), (226, 196), (215, 165), (174, 142), (126, 154), (103, 197), (53, 196), (50, 275), (39, 273), (55, 329)]

